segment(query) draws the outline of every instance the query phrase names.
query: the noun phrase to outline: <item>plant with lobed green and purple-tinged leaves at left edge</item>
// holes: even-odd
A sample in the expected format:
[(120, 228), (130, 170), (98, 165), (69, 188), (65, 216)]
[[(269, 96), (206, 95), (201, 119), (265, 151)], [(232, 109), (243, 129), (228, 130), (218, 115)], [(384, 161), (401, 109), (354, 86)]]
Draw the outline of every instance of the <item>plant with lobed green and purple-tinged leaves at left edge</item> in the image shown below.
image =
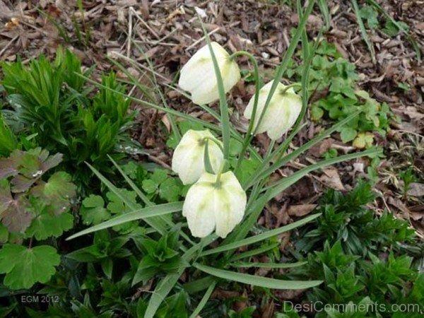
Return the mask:
[[(12, 289), (47, 283), (59, 265), (57, 250), (49, 245), (33, 247), (33, 241), (59, 237), (73, 226), (69, 212), (76, 187), (66, 172), (43, 176), (61, 162), (48, 151), (15, 150), (0, 159), (0, 273)], [(29, 241), (29, 247), (23, 242)], [(5, 244), (7, 242), (7, 244)]]

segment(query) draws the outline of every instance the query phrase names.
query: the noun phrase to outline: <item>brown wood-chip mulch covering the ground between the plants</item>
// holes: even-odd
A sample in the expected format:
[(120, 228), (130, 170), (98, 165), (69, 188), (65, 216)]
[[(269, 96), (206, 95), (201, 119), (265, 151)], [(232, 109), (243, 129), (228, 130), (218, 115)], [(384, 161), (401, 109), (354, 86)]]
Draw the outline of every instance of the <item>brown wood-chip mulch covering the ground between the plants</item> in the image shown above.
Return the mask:
[[(125, 57), (144, 66), (147, 65), (145, 57), (148, 57), (155, 65), (159, 83), (170, 83), (182, 64), (204, 45), (196, 21), (199, 14), (214, 41), (230, 52), (251, 52), (259, 60), (261, 70), (271, 78), (290, 43), (290, 29), (298, 23), (291, 8), (273, 5), (275, 1), (83, 1), (83, 15), (75, 2), (0, 0), (0, 59), (15, 61), (20, 56), (28, 62), (39, 54), (54, 56), (56, 48), (62, 45), (76, 52), (87, 66), (96, 64), (98, 71), (111, 69), (107, 57), (117, 59), (143, 81), (141, 72), (126, 64)], [(413, 167), (421, 182), (424, 179), (424, 65), (418, 63), (404, 35), (389, 37), (380, 30), (368, 31), (377, 60), (372, 64), (350, 1), (329, 0), (327, 3), (331, 28), (325, 34), (326, 39), (336, 45), (343, 57), (355, 63), (361, 88), (379, 102), (387, 102), (401, 119), (393, 123), (387, 138), (379, 141), (387, 158), (379, 167), (382, 181), (375, 187), (377, 192), (384, 194), (377, 203), (377, 212), (388, 209), (410, 220), (418, 234), (424, 237), (424, 190), (418, 184), (413, 185), (408, 200), (399, 195), (399, 171)], [(396, 20), (407, 23), (412, 37), (420, 47), (424, 46), (424, 1), (382, 0), (379, 3)], [(80, 25), (83, 37), (89, 31), (88, 43), (77, 39), (74, 21)], [(308, 35), (316, 35), (323, 23), (316, 9), (307, 23)], [(63, 30), (69, 39), (64, 39)], [(138, 47), (143, 49), (145, 56)], [(249, 68), (247, 59), (239, 61), (242, 68)], [(407, 84), (410, 89), (402, 90), (399, 84)], [(230, 105), (235, 110), (232, 119), (240, 130), (246, 126), (240, 114), (252, 91), (252, 84), (239, 83), (230, 96)], [(210, 119), (175, 92), (167, 92), (167, 98), (177, 110)], [(136, 127), (134, 138), (150, 151), (151, 158), (158, 163), (170, 163), (171, 152), (165, 146), (163, 134), (163, 127), (170, 129), (165, 114), (143, 108)], [(320, 129), (320, 124), (309, 123), (294, 144), (311, 139)], [(303, 165), (319, 160), (314, 153), (324, 153), (334, 143), (342, 153), (355, 150), (343, 145), (337, 136), (333, 138), (331, 142), (323, 141), (302, 160), (281, 169), (273, 177), (290, 175)], [(266, 149), (267, 143), (261, 136), (257, 138), (258, 146)], [(272, 228), (310, 213), (323, 189), (351, 189), (356, 177), (366, 175), (367, 164), (367, 160), (362, 159), (354, 164), (343, 163), (302, 179), (267, 208), (259, 223)]]

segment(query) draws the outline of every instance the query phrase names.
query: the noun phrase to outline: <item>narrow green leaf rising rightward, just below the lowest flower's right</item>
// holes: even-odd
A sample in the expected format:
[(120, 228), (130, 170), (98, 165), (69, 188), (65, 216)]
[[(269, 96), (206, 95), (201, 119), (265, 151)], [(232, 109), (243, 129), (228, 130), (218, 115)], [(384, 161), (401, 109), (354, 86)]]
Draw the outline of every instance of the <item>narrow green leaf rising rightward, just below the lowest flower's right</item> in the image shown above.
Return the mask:
[(321, 215), (321, 213), (314, 214), (312, 216), (307, 216), (306, 218), (302, 218), (302, 220), (298, 220), (298, 221), (293, 222), (291, 224), (284, 225), (281, 228), (276, 228), (274, 230), (268, 230), (268, 231), (263, 232), (261, 234), (254, 235), (252, 237), (248, 237), (244, 240), (238, 240), (238, 241), (232, 242), (230, 244), (215, 247), (214, 249), (208, 249), (207, 251), (202, 252), (201, 256), (204, 257), (206, 255), (216, 254), (216, 253), (219, 253), (219, 252), (225, 252), (225, 251), (229, 251), (230, 249), (237, 249), (237, 247), (242, 247), (242, 246), (245, 246), (245, 245), (250, 245), (250, 244), (257, 243), (257, 242), (261, 242), (263, 240), (267, 240), (267, 239), (274, 237), (276, 235), (280, 235), (283, 232), (288, 232), (290, 230), (298, 228), (299, 226), (304, 225), (304, 224), (310, 222), (311, 220), (314, 220), (315, 218), (318, 218), (320, 215)]

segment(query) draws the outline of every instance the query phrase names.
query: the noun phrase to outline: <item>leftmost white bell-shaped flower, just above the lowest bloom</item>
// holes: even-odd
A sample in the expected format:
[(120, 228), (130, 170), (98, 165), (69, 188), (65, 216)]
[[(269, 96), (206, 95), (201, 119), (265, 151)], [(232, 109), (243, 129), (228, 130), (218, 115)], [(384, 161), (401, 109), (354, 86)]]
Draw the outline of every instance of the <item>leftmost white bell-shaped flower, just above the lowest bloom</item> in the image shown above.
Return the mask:
[(223, 163), (224, 155), (220, 147), (222, 143), (213, 136), (211, 131), (192, 130), (182, 136), (174, 155), (172, 155), (172, 171), (178, 174), (183, 184), (196, 182), (205, 172), (204, 154), (208, 143), (208, 155), (213, 171), (218, 171)]

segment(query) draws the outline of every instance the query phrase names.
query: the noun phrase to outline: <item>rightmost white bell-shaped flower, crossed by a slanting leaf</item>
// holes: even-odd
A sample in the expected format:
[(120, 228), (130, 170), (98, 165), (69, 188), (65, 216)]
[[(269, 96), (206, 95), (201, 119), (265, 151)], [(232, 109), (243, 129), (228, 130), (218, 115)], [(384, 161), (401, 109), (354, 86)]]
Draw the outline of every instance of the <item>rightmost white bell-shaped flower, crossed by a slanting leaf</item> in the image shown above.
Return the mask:
[[(266, 99), (268, 98), (269, 91), (271, 90), (273, 81), (267, 83), (261, 90), (259, 90), (259, 98), (257, 105), (257, 112), (254, 117), (253, 129), (257, 128), (259, 118), (264, 111)], [(245, 117), (252, 118), (254, 104), (254, 96), (249, 100), (249, 104), (245, 110)], [(288, 129), (295, 124), (298, 119), (300, 111), (302, 110), (302, 98), (295, 93), (293, 88), (288, 88), (282, 83), (278, 83), (276, 91), (273, 93), (269, 102), (264, 117), (256, 130), (256, 134), (261, 134), (266, 131), (269, 138), (273, 140), (280, 139)]]

